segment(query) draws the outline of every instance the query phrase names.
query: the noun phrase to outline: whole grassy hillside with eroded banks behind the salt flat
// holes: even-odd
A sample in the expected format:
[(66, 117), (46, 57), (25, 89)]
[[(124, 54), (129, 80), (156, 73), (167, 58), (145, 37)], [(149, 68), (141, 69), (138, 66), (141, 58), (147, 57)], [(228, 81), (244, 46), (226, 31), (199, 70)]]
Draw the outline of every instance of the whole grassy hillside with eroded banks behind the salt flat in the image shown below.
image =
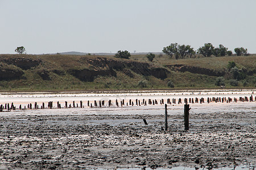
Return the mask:
[[(228, 69), (236, 63), (238, 74)], [(256, 56), (170, 59), (145, 55), (113, 56), (0, 55), (0, 91), (101, 91), (141, 89), (226, 88), (256, 85)], [(167, 86), (172, 81), (174, 88)], [(231, 82), (231, 83), (230, 83)]]

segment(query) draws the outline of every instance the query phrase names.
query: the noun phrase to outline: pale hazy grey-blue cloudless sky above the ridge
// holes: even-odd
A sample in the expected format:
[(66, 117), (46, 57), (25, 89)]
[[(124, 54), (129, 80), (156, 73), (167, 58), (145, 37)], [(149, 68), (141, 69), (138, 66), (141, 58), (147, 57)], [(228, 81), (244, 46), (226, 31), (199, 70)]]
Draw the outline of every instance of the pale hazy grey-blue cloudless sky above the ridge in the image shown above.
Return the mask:
[(0, 0), (0, 54), (162, 52), (211, 42), (256, 53), (255, 0)]

